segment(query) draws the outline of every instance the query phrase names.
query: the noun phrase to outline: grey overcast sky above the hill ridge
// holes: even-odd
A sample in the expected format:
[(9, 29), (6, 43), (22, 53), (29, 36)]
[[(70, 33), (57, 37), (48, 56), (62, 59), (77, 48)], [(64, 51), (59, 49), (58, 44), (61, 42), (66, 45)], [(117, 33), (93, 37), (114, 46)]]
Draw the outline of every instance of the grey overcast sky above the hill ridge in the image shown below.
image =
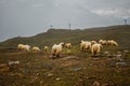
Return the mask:
[(0, 0), (0, 42), (48, 29), (130, 24), (130, 0)]

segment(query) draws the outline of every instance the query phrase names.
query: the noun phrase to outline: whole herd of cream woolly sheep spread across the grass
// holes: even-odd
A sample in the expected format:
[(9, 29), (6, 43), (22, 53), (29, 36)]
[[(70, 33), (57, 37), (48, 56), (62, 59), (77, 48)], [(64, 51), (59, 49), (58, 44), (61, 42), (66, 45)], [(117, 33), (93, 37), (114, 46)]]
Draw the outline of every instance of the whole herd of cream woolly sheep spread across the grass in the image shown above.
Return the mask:
[[(106, 40), (99, 40), (99, 42), (81, 40), (80, 51), (81, 52), (91, 51), (92, 55), (98, 55), (101, 52), (101, 49), (103, 48), (104, 45), (107, 45), (107, 46), (112, 46), (112, 45), (118, 46), (118, 43), (116, 41), (114, 41), (114, 40), (107, 40), (107, 41)], [(64, 43), (64, 42), (61, 42), (60, 44), (53, 44), (53, 46), (51, 48), (51, 55), (55, 56), (55, 57), (60, 57), (60, 54), (62, 53), (63, 47), (69, 49), (69, 48), (73, 47), (73, 45), (72, 45), (72, 43)], [(32, 46), (31, 49), (30, 49), (30, 45), (24, 45), (24, 44), (18, 44), (17, 48), (20, 51), (32, 51), (32, 52), (40, 52), (41, 51), (37, 46)], [(49, 51), (49, 46), (44, 46), (43, 49), (44, 49), (44, 52), (48, 52)]]

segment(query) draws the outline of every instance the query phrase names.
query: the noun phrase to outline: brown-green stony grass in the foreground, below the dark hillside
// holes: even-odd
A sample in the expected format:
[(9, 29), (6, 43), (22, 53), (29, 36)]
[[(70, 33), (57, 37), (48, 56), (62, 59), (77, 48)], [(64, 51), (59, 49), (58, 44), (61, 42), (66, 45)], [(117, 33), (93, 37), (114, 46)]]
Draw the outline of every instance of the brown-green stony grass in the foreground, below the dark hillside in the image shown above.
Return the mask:
[[(104, 48), (101, 54), (105, 49), (108, 48)], [(116, 54), (117, 48), (112, 49)], [(91, 57), (91, 53), (80, 52), (79, 46), (64, 48), (56, 59), (50, 58), (50, 54), (44, 52), (0, 51), (0, 63), (20, 61), (18, 67), (0, 72), (0, 85), (3, 86), (92, 86), (95, 81), (109, 86), (130, 85), (130, 66), (117, 67), (116, 57)], [(121, 58), (129, 64), (130, 53), (121, 54)]]

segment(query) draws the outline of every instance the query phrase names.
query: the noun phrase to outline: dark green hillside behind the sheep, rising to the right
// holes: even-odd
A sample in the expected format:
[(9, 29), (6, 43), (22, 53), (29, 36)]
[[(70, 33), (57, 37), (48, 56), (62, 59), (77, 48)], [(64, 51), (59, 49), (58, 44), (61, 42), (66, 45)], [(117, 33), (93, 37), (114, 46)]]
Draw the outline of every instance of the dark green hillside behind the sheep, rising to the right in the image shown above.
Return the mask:
[(78, 45), (80, 40), (98, 41), (100, 39), (116, 40), (121, 49), (130, 49), (130, 25), (99, 27), (83, 30), (50, 29), (47, 32), (29, 38), (17, 37), (9, 39), (1, 42), (0, 47), (16, 47), (20, 43), (37, 45), (39, 47), (44, 45), (52, 46), (52, 44), (58, 42), (72, 42), (73, 44)]

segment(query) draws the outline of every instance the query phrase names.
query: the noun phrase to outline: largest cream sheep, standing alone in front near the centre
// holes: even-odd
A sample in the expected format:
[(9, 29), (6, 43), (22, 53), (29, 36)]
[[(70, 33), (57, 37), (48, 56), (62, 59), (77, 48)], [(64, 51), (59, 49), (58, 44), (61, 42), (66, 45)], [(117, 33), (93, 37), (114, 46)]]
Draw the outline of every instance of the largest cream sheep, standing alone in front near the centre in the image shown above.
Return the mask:
[(63, 48), (63, 42), (60, 43), (60, 44), (54, 44), (52, 46), (52, 56), (56, 56), (56, 57), (60, 57), (60, 54), (62, 52), (62, 48)]

